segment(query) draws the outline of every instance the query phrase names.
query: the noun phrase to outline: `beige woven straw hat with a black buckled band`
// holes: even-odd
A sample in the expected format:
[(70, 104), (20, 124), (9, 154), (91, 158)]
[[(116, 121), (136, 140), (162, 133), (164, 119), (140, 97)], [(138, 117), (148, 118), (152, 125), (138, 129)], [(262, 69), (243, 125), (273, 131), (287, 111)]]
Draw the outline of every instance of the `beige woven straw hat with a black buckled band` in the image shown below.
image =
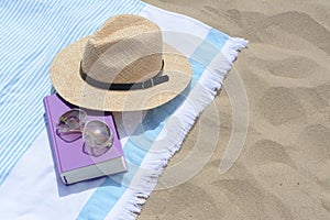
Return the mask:
[(59, 96), (73, 105), (134, 111), (178, 96), (190, 82), (191, 67), (187, 57), (163, 42), (155, 23), (121, 14), (59, 52), (51, 78)]

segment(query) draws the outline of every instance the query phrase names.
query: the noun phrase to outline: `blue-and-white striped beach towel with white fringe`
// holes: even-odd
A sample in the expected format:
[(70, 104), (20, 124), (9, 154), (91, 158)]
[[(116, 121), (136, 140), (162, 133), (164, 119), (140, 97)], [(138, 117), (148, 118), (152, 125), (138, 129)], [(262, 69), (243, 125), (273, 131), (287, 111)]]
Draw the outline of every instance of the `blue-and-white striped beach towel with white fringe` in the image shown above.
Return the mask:
[[(42, 102), (54, 92), (50, 67), (61, 50), (120, 13), (157, 23), (165, 42), (189, 57), (191, 84), (162, 107), (114, 114), (131, 128), (119, 127), (128, 173), (64, 186), (56, 177)], [(135, 219), (245, 45), (138, 0), (1, 0), (0, 219)]]

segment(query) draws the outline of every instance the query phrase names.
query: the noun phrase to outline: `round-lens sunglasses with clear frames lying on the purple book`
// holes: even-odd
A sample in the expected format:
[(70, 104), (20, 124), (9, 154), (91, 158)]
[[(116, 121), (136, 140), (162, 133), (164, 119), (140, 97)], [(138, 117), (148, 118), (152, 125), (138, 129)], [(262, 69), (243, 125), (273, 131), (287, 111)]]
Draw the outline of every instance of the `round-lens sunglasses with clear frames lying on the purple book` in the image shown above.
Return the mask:
[(107, 123), (99, 120), (87, 121), (81, 109), (72, 109), (58, 118), (56, 134), (65, 142), (84, 140), (82, 152), (91, 156), (101, 156), (113, 143), (113, 134)]

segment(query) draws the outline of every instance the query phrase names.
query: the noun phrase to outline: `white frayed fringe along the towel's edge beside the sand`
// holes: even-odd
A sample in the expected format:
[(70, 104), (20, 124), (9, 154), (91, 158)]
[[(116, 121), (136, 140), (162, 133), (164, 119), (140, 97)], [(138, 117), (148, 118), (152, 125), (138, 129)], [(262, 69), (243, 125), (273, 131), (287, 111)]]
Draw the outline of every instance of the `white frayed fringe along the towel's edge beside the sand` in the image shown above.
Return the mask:
[(166, 136), (167, 139), (177, 139), (172, 140), (172, 143), (176, 143), (175, 146), (168, 147), (167, 151), (162, 154), (157, 153), (148, 155), (148, 160), (143, 161), (143, 166), (147, 167), (147, 169), (151, 172), (145, 172), (145, 174), (141, 178), (139, 178), (139, 180), (141, 182), (141, 187), (128, 188), (128, 191), (125, 194), (129, 195), (127, 197), (129, 199), (127, 199), (125, 207), (122, 207), (122, 210), (124, 211), (120, 216), (116, 217), (117, 219), (133, 220), (138, 218), (141, 212), (142, 206), (148, 198), (150, 194), (156, 187), (157, 180), (164, 167), (167, 165), (172, 156), (180, 148), (186, 134), (190, 131), (201, 111), (209, 103), (211, 103), (215, 96), (217, 95), (217, 90), (221, 88), (222, 80), (230, 70), (232, 63), (238, 56), (239, 51), (246, 47), (248, 43), (248, 41), (239, 37), (230, 37), (228, 40), (228, 42), (221, 50), (221, 61), (212, 66), (212, 70), (209, 69), (210, 72), (204, 73), (198, 84), (189, 94), (188, 99), (191, 100), (185, 101), (185, 103), (175, 112), (175, 114), (179, 116), (179, 119), (182, 120), (182, 123), (178, 125), (182, 125), (183, 131), (177, 132), (178, 127), (175, 127), (176, 133), (179, 133), (179, 136)]

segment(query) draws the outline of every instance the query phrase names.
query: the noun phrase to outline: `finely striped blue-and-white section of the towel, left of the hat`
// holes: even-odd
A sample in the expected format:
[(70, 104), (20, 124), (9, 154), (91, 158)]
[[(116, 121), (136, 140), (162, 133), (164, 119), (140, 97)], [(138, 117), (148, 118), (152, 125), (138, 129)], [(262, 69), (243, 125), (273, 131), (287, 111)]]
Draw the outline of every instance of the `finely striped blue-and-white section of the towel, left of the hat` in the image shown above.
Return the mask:
[(138, 0), (0, 2), (0, 186), (45, 128), (50, 66), (66, 45), (109, 16), (139, 13)]

